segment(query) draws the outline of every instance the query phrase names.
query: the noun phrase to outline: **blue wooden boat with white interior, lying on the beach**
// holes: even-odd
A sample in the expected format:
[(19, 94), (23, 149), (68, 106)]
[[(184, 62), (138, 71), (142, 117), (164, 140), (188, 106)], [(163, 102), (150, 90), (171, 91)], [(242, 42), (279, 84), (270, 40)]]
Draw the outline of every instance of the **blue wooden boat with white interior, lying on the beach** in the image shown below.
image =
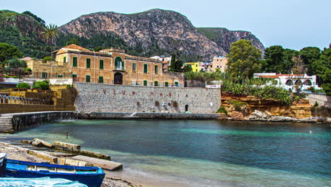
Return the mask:
[(70, 181), (79, 181), (90, 187), (100, 187), (103, 183), (105, 172), (100, 167), (66, 166), (7, 159), (6, 176), (15, 178), (49, 176), (51, 179), (68, 179)]

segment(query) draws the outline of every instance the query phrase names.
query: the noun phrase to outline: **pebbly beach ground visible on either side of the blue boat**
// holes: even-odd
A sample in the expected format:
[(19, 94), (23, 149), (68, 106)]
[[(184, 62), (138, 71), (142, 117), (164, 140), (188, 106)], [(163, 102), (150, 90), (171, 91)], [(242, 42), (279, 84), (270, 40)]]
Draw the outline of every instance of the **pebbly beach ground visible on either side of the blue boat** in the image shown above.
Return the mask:
[[(28, 162), (47, 162), (44, 159), (35, 157), (34, 155), (21, 152), (13, 147), (4, 147), (0, 145), (0, 152), (6, 152), (8, 159), (18, 159)], [(122, 179), (111, 178), (110, 176), (105, 176), (103, 179), (102, 187), (144, 187), (137, 183), (130, 183)]]

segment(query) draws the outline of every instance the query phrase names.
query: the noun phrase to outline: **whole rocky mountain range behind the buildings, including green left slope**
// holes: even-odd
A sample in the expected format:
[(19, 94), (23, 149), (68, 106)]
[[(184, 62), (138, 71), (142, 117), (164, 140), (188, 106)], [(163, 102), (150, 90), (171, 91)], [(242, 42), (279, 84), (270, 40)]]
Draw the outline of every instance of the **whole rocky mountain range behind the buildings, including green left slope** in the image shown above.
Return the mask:
[[(45, 57), (49, 46), (40, 34), (45, 28), (33, 13), (0, 11), (0, 42), (16, 45), (24, 55)], [(182, 14), (152, 9), (141, 13), (91, 13), (59, 27), (57, 47), (76, 38), (83, 47), (120, 47), (129, 55), (150, 57), (175, 53), (184, 62), (209, 60), (226, 55), (232, 42), (252, 40), (264, 51), (262, 43), (247, 31), (226, 28), (195, 28)]]

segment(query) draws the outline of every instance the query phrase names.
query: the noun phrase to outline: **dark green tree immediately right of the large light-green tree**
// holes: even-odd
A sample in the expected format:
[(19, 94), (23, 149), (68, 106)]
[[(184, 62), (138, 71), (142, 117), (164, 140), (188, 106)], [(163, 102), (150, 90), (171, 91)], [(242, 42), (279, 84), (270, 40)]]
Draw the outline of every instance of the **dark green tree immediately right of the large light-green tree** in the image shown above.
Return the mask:
[(265, 72), (284, 72), (285, 64), (283, 47), (280, 45), (267, 47), (267, 49), (265, 49), (264, 58), (263, 69)]

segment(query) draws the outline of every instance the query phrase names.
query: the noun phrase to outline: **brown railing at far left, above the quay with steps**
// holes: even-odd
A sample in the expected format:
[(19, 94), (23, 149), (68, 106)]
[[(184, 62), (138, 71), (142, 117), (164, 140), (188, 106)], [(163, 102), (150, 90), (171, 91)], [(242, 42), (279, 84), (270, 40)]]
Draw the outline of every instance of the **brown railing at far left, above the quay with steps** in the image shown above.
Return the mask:
[(53, 105), (53, 101), (0, 95), (0, 104)]

